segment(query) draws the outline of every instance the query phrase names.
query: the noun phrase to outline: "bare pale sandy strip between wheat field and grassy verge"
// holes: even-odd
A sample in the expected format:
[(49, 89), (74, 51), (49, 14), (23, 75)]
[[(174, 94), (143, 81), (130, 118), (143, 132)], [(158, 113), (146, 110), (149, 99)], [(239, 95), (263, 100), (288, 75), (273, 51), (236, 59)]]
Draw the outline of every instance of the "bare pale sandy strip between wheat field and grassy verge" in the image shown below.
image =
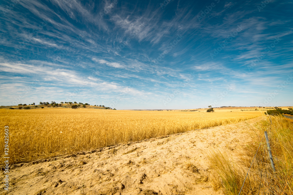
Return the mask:
[(14, 164), (0, 194), (221, 194), (209, 180), (209, 151), (237, 160), (259, 120)]

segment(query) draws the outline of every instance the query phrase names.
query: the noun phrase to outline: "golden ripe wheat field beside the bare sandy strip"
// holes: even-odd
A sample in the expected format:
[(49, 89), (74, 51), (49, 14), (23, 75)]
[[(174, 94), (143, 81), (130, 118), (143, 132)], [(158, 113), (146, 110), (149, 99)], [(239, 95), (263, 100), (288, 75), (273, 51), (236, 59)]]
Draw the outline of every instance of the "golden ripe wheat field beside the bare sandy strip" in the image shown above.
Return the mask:
[[(56, 108), (1, 109), (0, 115), (1, 140), (4, 140), (4, 126), (9, 126), (9, 161), (12, 163), (235, 123), (261, 113)], [(1, 159), (3, 154), (4, 144), (1, 144)]]

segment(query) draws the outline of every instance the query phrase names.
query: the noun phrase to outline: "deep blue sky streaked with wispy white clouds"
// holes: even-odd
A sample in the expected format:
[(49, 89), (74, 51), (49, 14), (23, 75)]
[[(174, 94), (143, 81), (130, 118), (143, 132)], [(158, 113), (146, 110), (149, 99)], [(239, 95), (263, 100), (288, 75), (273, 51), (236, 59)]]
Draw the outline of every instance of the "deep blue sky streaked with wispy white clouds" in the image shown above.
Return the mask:
[(1, 105), (293, 106), (292, 1), (1, 1)]

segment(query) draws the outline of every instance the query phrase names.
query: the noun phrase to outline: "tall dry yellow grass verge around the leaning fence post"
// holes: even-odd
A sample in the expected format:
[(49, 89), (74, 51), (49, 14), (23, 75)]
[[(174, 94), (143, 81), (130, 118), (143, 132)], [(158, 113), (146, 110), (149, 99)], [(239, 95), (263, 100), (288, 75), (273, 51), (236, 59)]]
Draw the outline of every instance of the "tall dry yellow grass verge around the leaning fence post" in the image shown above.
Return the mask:
[[(272, 123), (270, 122), (272, 121)], [(209, 156), (214, 190), (224, 194), (293, 194), (293, 121), (282, 116), (266, 116), (258, 123), (252, 140), (233, 163), (228, 155), (213, 152)], [(268, 158), (264, 132), (268, 132), (276, 172)], [(254, 161), (253, 161), (254, 159)]]

